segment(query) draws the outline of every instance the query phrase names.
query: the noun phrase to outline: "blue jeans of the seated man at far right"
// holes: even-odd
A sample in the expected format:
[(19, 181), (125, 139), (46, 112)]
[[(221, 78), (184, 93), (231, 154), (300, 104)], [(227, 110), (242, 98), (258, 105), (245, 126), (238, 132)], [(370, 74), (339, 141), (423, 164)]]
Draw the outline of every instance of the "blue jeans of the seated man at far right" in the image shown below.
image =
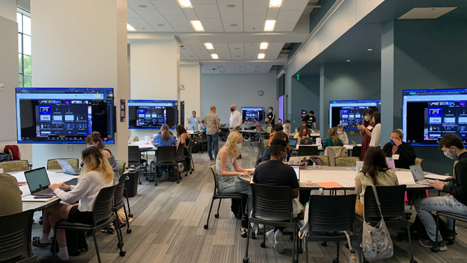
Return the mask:
[[(419, 215), (421, 222), (425, 225), (426, 233), (430, 240), (435, 241), (436, 238), (436, 222), (433, 219), (432, 211), (442, 211), (456, 213), (459, 215), (467, 215), (467, 206), (457, 201), (452, 195), (443, 197), (426, 197), (419, 198), (414, 202), (415, 210)], [(448, 219), (448, 228), (452, 230), (452, 219)], [(438, 242), (443, 238), (438, 231)]]

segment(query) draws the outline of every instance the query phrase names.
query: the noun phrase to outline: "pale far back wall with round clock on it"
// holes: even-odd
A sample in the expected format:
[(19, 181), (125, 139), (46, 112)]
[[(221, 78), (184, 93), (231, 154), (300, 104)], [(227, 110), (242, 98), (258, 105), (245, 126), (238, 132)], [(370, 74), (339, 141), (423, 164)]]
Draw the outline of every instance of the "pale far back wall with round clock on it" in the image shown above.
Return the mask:
[[(258, 96), (263, 90), (265, 95)], [(278, 114), (276, 97), (276, 72), (268, 74), (204, 74), (201, 75), (201, 117), (209, 113), (209, 107), (217, 107), (221, 124), (228, 124), (230, 105), (242, 107), (273, 107)]]

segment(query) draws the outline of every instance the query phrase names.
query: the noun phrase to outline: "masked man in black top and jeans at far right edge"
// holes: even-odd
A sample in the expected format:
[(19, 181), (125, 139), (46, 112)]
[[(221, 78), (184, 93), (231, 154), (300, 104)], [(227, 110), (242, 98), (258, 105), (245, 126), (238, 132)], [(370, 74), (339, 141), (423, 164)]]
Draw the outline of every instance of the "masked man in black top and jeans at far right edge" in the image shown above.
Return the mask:
[[(456, 174), (455, 184), (444, 184), (444, 182), (438, 180), (428, 181), (430, 186), (433, 186), (438, 191), (448, 193), (448, 195), (419, 198), (415, 200), (414, 205), (417, 215), (420, 217), (421, 222), (423, 222), (426, 233), (430, 237), (428, 240), (419, 240), (419, 243), (422, 246), (431, 248), (435, 246), (436, 241), (438, 242), (439, 251), (446, 251), (446, 243), (440, 233), (438, 233), (438, 240), (435, 240), (436, 224), (431, 213), (433, 211), (442, 211), (467, 215), (467, 188), (464, 188), (467, 184), (467, 150), (462, 143), (462, 139), (452, 133), (441, 137), (438, 146), (449, 159), (459, 159), (459, 162), (454, 167)], [(450, 235), (452, 235), (452, 219), (448, 219), (448, 228), (451, 230)], [(452, 236), (445, 238), (452, 240)]]

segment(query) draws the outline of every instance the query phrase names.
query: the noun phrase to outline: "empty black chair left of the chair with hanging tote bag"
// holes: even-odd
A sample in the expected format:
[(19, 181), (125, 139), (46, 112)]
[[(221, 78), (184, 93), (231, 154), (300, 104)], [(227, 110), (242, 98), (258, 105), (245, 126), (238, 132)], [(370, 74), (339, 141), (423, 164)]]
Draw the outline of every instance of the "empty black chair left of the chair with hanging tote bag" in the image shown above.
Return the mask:
[[(339, 262), (339, 242), (350, 240), (358, 243), (359, 235), (355, 233), (355, 199), (356, 195), (310, 195), (308, 209), (308, 233), (305, 235), (305, 259), (308, 262), (308, 242), (337, 242), (337, 257), (333, 262)], [(311, 230), (311, 231), (310, 231)], [(352, 242), (352, 241), (351, 241)], [(359, 250), (359, 245), (355, 246)]]

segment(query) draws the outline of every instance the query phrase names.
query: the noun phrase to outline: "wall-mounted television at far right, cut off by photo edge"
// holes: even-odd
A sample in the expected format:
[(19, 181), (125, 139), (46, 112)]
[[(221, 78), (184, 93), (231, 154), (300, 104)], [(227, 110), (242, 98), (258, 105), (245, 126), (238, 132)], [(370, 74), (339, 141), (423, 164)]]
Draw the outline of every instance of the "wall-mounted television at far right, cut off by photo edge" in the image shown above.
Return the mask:
[(403, 140), (414, 146), (437, 146), (455, 133), (467, 144), (467, 88), (403, 90)]

